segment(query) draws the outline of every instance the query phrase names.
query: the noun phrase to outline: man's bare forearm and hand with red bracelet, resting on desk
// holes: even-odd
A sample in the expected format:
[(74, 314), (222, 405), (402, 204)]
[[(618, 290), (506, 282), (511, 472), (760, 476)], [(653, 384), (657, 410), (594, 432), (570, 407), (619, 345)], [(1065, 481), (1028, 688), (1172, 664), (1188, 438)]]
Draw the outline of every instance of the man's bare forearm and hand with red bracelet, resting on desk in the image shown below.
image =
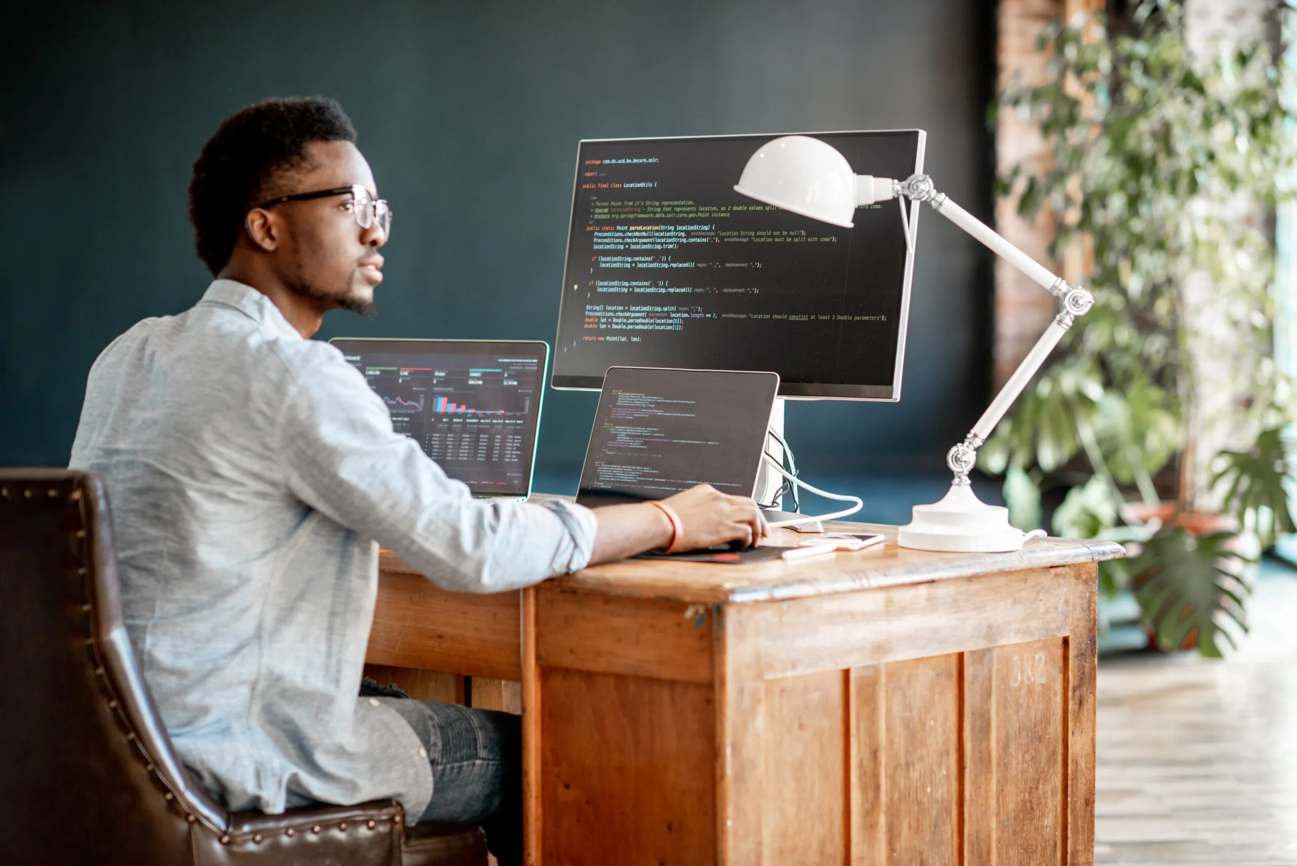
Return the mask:
[[(680, 517), (684, 538), (677, 550), (696, 550), (725, 542), (742, 542), (751, 547), (770, 534), (765, 517), (747, 497), (730, 497), (709, 484), (700, 484), (674, 497), (663, 499)], [(656, 506), (606, 506), (595, 508), (599, 532), (594, 537), (590, 565), (611, 563), (667, 547), (671, 543), (671, 519)]]

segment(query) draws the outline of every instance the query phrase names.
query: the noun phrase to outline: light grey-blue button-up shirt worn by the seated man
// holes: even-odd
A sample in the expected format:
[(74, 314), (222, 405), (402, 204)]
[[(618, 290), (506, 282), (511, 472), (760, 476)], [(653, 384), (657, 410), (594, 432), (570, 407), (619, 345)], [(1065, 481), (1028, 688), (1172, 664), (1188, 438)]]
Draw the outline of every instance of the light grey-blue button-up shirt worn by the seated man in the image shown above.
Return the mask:
[(144, 678), (231, 809), (396, 797), (412, 821), (432, 797), (414, 731), (357, 697), (379, 543), (498, 592), (584, 567), (595, 533), (578, 506), (472, 499), (337, 349), (231, 280), (104, 350), (70, 465), (108, 482)]

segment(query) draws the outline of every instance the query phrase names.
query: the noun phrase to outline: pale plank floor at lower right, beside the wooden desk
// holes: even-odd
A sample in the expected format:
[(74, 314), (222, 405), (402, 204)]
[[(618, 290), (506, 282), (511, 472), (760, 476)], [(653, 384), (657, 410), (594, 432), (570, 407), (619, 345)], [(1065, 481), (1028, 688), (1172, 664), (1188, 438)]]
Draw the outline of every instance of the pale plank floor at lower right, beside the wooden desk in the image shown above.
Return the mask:
[(1297, 866), (1297, 572), (1226, 661), (1102, 659), (1095, 862)]

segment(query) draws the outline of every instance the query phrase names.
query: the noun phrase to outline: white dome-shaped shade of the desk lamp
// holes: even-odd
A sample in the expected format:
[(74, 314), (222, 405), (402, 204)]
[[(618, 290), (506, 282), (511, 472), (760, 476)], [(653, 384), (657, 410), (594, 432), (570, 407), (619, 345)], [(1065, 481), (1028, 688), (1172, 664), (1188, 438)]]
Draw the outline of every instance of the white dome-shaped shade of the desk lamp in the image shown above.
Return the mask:
[(747, 161), (737, 192), (843, 228), (856, 213), (856, 175), (831, 144), (786, 135), (763, 144)]

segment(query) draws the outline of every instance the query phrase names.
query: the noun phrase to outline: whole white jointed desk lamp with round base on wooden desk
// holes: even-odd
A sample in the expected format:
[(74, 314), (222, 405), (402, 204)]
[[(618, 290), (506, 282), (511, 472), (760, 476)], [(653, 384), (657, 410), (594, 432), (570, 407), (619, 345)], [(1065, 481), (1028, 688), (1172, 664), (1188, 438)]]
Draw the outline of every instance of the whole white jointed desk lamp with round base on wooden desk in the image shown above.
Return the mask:
[(905, 200), (914, 202), (914, 207), (926, 201), (933, 210), (1058, 297), (1062, 307), (1058, 315), (964, 441), (946, 455), (946, 464), (955, 473), (949, 491), (940, 502), (914, 506), (913, 519), (896, 535), (901, 547), (918, 550), (1003, 552), (1021, 548), (1035, 533), (1023, 533), (1010, 526), (1008, 508), (988, 506), (978, 499), (969, 484), (969, 472), (977, 464), (977, 450), (991, 436), (1049, 351), (1058, 345), (1073, 319), (1089, 311), (1095, 302), (1089, 292), (1067, 285), (973, 214), (936, 192), (927, 175), (912, 175), (905, 180), (857, 175), (837, 148), (818, 139), (790, 135), (768, 141), (747, 161), (734, 189), (768, 205), (843, 228), (852, 227), (856, 207), (900, 198), (901, 223), (908, 244), (913, 244), (913, 240)]

